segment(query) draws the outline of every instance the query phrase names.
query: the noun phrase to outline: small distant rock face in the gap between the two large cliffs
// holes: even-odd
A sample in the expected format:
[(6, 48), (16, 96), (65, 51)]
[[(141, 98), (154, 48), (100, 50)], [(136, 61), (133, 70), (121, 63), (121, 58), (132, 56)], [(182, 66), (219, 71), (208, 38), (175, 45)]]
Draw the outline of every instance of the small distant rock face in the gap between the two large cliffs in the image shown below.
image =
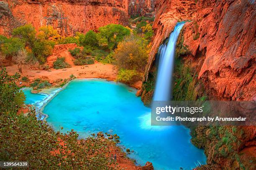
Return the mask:
[(148, 16), (153, 17), (155, 15), (156, 0), (129, 0), (128, 13), (131, 16)]

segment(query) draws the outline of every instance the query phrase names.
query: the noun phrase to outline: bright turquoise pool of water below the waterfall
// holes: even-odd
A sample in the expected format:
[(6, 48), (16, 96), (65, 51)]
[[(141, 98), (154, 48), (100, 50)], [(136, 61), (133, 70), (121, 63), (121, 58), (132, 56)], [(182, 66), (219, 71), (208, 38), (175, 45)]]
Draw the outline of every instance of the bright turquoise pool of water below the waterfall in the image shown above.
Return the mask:
[[(56, 91), (56, 90), (55, 90)], [(44, 100), (43, 94), (24, 91), (26, 103)], [(80, 137), (108, 132), (120, 136), (138, 165), (152, 162), (156, 170), (192, 169), (206, 163), (203, 150), (190, 142), (183, 126), (151, 126), (151, 110), (124, 84), (100, 79), (74, 80), (44, 107), (47, 122), (63, 132), (74, 129)]]

